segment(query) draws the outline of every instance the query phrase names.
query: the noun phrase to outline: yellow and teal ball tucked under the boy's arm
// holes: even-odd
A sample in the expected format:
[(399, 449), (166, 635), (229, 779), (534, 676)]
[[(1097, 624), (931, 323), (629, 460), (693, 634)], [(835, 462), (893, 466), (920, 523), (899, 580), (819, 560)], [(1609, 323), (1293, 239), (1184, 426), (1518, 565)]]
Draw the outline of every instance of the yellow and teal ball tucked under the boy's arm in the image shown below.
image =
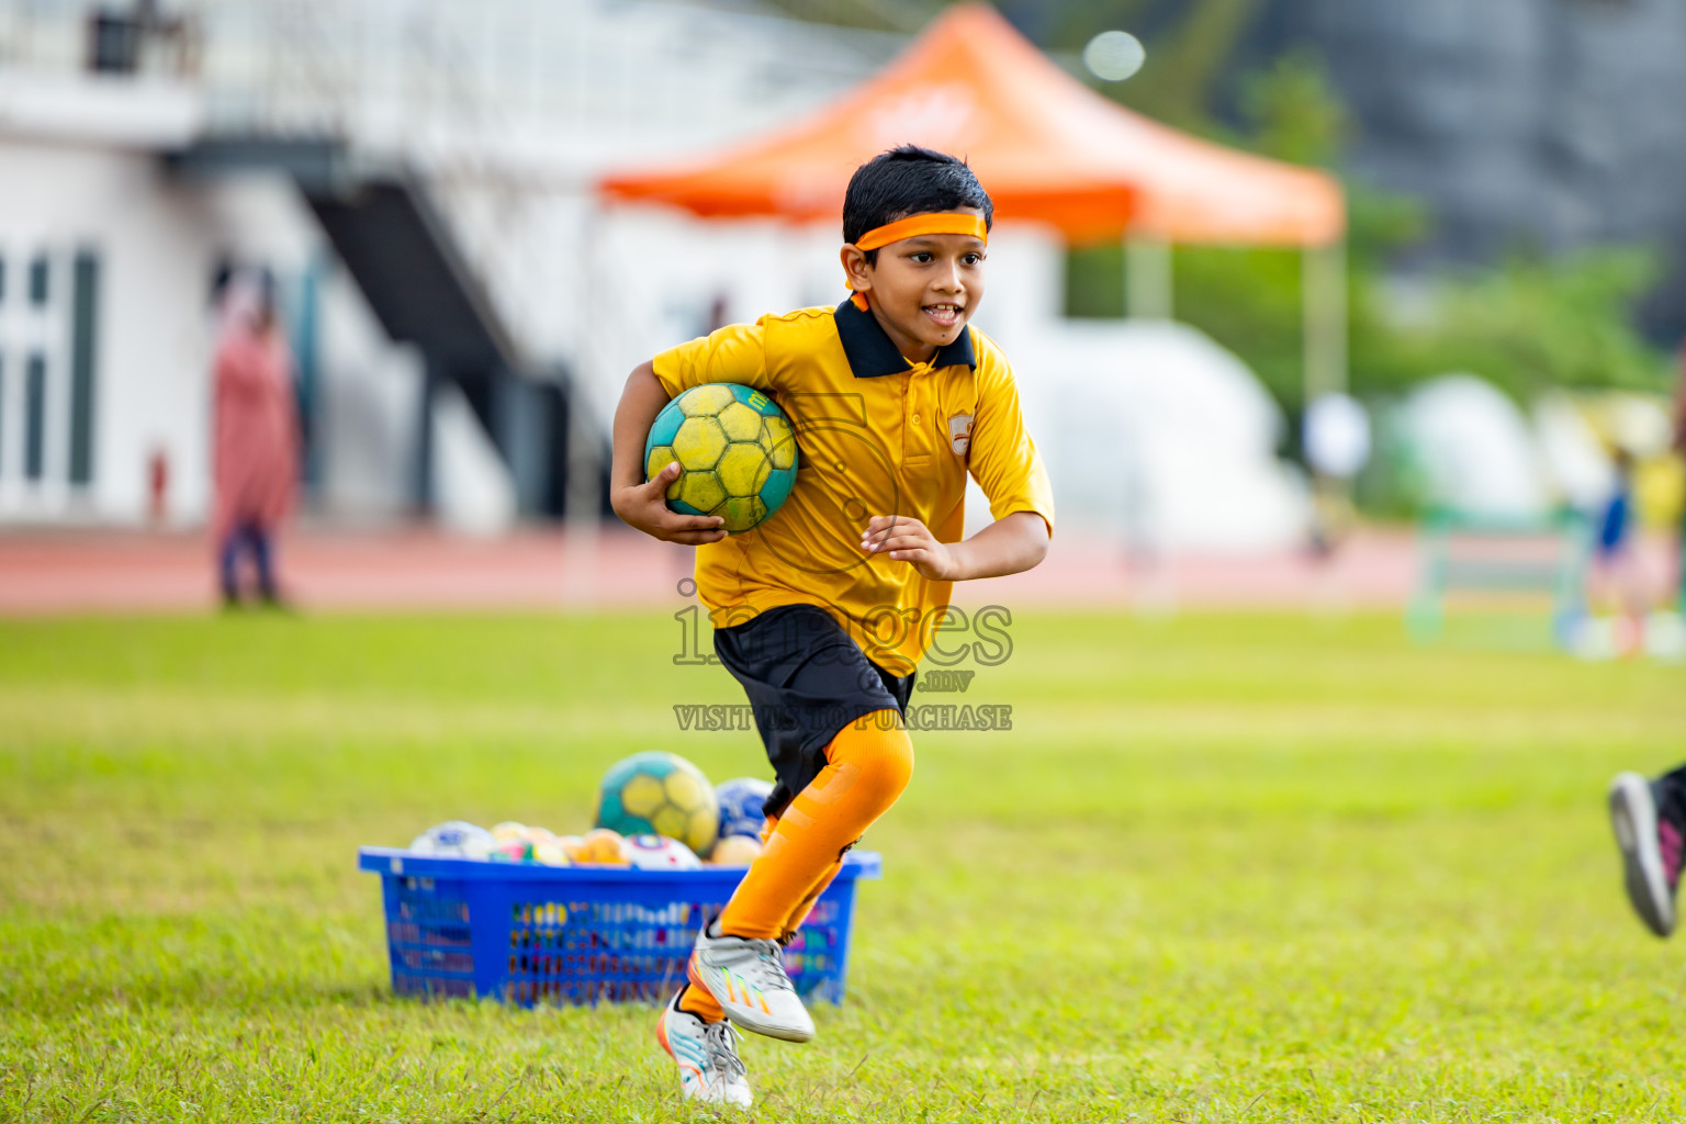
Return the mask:
[(668, 509), (720, 516), (727, 534), (772, 517), (796, 485), (796, 433), (779, 404), (740, 383), (693, 386), (663, 406), (644, 440), (644, 479), (674, 460)]

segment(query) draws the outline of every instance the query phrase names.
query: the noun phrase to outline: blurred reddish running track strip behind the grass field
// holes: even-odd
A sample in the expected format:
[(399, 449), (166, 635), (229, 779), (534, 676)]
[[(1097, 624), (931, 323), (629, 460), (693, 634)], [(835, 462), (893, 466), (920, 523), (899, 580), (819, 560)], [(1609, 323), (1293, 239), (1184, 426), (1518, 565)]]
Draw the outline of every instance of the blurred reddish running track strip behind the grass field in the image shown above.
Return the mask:
[[(496, 539), (430, 527), (302, 527), (278, 551), (283, 593), (309, 612), (528, 612), (673, 605), (691, 549), (617, 526)], [(961, 605), (1344, 608), (1399, 607), (1416, 563), (1408, 531), (1366, 531), (1330, 561), (1303, 553), (1175, 556), (1130, 566), (1123, 548), (1062, 534), (1035, 570), (958, 590)], [(690, 590), (686, 590), (688, 593)], [(216, 608), (199, 534), (0, 533), (0, 617)]]

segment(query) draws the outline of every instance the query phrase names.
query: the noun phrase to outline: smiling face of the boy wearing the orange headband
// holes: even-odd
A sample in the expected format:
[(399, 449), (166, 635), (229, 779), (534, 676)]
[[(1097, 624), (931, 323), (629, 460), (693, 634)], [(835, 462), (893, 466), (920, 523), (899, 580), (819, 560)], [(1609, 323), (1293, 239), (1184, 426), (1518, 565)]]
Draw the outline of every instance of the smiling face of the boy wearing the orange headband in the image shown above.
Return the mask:
[[(983, 212), (959, 207), (953, 214)], [(971, 234), (919, 234), (878, 249), (867, 265), (856, 246), (843, 246), (850, 286), (867, 293), (872, 315), (912, 362), (929, 362), (953, 344), (983, 300), (983, 239)]]

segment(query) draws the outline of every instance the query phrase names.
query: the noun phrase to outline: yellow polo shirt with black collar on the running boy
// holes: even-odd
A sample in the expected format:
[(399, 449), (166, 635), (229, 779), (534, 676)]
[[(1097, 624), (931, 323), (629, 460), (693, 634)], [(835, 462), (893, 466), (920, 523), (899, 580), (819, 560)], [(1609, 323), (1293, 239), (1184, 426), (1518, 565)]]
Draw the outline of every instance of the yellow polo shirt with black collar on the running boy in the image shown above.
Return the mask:
[(1013, 371), (973, 327), (931, 362), (910, 364), (870, 312), (843, 302), (723, 327), (664, 351), (654, 367), (669, 398), (705, 383), (752, 386), (796, 430), (796, 487), (784, 506), (754, 531), (696, 548), (696, 591), (715, 627), (774, 605), (818, 605), (868, 659), (905, 676), (954, 583), (862, 551), (868, 519), (907, 516), (958, 543), (971, 474), (995, 519), (1030, 511), (1054, 533), (1054, 495)]

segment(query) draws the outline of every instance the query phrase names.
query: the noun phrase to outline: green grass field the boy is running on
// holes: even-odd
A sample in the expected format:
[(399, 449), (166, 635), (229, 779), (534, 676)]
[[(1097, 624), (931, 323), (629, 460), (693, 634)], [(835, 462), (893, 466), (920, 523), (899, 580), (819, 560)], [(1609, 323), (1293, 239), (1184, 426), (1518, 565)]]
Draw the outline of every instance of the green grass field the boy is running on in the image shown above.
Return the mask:
[[(1686, 674), (1398, 620), (1022, 612), (868, 844), (851, 994), (762, 1121), (1673, 1121), (1686, 945), (1602, 811)], [(359, 844), (760, 772), (663, 613), (0, 625), (0, 1119), (661, 1121), (646, 1008), (389, 994)], [(956, 699), (961, 696), (954, 696)], [(921, 701), (932, 701), (926, 696)]]

